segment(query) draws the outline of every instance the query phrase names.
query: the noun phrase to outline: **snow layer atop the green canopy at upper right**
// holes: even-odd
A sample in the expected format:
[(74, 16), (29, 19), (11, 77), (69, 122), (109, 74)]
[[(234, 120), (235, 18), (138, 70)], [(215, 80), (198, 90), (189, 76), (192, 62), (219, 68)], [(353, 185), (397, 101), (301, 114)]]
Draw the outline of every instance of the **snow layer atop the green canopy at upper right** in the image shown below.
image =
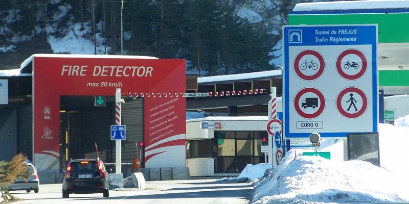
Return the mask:
[(333, 11), (333, 10), (371, 10), (371, 9), (408, 9), (408, 0), (367, 0), (342, 2), (314, 2), (296, 4), (294, 12)]

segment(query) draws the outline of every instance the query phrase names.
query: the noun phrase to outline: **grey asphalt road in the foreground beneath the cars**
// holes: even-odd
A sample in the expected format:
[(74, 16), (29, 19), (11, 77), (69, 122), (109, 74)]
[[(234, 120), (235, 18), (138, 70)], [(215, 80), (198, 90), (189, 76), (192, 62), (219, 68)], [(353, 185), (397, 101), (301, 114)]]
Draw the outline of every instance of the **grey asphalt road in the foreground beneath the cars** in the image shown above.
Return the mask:
[(12, 191), (20, 198), (13, 202), (18, 204), (43, 204), (43, 203), (248, 203), (252, 195), (253, 186), (247, 183), (216, 183), (215, 180), (177, 180), (146, 182), (145, 190), (116, 189), (109, 191), (109, 197), (96, 194), (70, 194), (70, 198), (62, 198), (61, 184), (40, 185), (39, 193), (26, 193), (26, 191)]

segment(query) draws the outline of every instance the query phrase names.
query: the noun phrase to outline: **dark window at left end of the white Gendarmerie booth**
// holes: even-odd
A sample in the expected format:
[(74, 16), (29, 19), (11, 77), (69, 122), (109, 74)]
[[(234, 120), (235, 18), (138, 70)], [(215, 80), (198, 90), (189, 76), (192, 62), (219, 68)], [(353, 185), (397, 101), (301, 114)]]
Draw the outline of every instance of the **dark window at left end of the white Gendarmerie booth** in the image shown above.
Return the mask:
[(212, 140), (189, 140), (186, 142), (188, 158), (211, 158)]

